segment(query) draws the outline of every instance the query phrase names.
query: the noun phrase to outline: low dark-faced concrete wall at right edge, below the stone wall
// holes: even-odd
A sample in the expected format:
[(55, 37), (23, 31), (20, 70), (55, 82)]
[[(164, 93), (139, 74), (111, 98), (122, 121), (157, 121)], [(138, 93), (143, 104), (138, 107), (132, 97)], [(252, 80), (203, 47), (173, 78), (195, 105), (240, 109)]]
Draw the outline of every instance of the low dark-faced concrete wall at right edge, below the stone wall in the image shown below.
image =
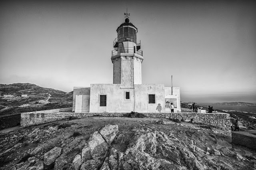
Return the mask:
[(256, 149), (256, 130), (232, 132), (232, 143)]

